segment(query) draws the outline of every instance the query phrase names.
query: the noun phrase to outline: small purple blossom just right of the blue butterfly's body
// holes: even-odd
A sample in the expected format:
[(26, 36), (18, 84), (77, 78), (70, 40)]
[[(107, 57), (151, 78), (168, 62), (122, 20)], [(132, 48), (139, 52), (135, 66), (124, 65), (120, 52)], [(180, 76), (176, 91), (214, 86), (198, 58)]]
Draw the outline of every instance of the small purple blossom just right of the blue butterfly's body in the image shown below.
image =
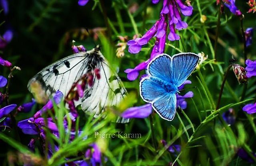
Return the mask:
[[(184, 89), (184, 86), (186, 84), (192, 84), (192, 82), (190, 80), (186, 80), (184, 81), (184, 83), (178, 87), (178, 90), (182, 90)], [(192, 91), (187, 92), (184, 96), (181, 96), (179, 94), (176, 94), (176, 107), (180, 107), (181, 109), (186, 109), (187, 108), (187, 102), (186, 102), (186, 98), (192, 98), (194, 96), (194, 93)]]

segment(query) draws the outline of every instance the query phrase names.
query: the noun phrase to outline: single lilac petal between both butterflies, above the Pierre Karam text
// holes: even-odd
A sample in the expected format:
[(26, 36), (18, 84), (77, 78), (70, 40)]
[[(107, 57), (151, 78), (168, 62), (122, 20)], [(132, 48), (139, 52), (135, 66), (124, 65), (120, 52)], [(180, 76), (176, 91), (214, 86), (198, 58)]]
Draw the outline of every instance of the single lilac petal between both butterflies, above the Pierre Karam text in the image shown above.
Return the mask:
[(151, 113), (152, 113), (151, 104), (145, 104), (143, 106), (128, 108), (121, 114), (121, 116), (123, 118), (146, 118)]

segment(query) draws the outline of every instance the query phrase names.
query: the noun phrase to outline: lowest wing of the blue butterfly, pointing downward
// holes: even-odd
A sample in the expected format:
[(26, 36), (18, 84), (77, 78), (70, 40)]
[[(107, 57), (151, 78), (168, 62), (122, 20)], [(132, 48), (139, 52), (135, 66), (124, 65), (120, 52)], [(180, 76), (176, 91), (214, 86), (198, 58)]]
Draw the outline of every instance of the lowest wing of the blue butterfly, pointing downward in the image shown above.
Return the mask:
[(173, 120), (176, 113), (176, 94), (168, 93), (152, 103), (154, 110), (165, 120)]

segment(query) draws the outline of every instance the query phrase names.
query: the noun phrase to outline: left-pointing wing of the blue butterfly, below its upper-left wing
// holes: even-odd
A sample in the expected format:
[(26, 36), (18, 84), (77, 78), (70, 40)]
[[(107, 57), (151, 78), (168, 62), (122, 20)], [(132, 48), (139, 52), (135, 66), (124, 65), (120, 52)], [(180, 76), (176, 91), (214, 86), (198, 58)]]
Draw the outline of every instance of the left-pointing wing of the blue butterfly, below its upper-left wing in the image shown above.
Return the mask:
[(164, 87), (159, 85), (158, 82), (153, 77), (145, 78), (140, 82), (140, 96), (145, 102), (153, 102), (159, 98), (159, 96), (163, 96), (166, 94), (166, 90)]

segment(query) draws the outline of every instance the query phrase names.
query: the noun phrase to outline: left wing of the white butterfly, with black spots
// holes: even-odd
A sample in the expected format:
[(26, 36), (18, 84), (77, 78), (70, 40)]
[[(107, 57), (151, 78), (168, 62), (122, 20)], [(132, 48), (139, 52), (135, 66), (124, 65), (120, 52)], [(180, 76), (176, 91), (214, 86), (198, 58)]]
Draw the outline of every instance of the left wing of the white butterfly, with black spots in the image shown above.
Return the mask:
[(28, 90), (41, 104), (56, 90), (66, 96), (72, 84), (87, 72), (86, 58), (86, 52), (79, 52), (47, 66), (29, 80)]

